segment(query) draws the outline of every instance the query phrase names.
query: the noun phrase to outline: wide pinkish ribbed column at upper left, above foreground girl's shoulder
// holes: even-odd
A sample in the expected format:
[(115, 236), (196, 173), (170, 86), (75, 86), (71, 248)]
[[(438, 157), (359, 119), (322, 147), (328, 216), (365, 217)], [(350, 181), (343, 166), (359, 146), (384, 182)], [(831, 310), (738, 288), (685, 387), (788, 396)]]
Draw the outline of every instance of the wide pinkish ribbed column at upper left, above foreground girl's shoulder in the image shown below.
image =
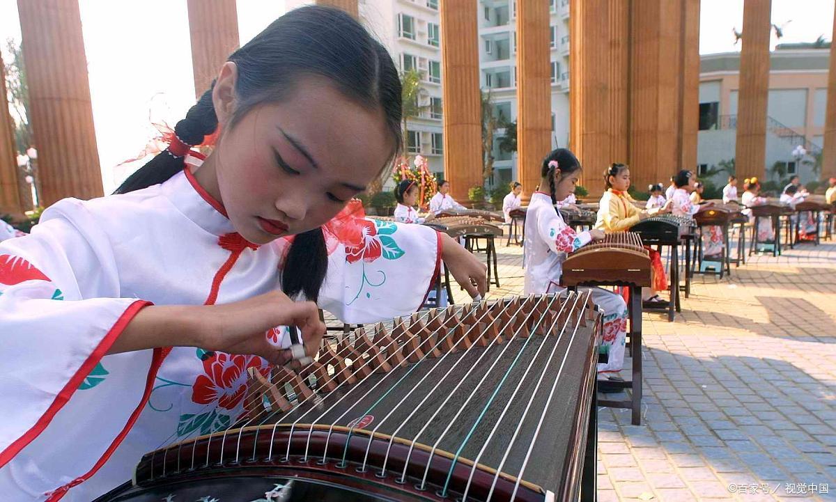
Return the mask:
[(77, 0), (18, 0), (40, 202), (103, 195)]

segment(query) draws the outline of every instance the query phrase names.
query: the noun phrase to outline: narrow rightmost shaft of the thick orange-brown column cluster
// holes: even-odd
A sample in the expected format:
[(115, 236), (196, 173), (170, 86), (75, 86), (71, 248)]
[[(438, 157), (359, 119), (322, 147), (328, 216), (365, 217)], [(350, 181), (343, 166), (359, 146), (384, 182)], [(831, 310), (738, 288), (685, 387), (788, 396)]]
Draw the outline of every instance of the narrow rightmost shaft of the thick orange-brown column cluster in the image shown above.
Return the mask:
[[(700, 0), (681, 0), (681, 3), (679, 165), (683, 169), (696, 170), (696, 142), (700, 130)], [(660, 181), (666, 183), (667, 178)]]

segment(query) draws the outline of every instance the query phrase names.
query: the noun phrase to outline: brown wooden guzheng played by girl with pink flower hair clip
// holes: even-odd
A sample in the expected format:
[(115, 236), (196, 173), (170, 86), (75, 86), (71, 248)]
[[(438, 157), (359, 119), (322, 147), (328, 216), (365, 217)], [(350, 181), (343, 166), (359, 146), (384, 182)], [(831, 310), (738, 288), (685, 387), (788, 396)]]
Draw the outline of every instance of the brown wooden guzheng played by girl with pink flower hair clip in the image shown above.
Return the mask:
[(563, 261), (563, 286), (650, 287), (650, 254), (634, 232), (614, 232)]

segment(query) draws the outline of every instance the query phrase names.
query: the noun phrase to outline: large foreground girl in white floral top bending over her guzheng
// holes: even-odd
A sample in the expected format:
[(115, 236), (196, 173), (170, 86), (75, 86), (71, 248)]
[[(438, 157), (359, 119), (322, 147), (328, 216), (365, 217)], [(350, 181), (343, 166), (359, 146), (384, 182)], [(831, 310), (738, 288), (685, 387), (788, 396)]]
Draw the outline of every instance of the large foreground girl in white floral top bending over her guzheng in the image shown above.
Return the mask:
[[(349, 14), (291, 11), (232, 53), (119, 195), (60, 200), (0, 243), (0, 498), (95, 499), (145, 452), (228, 428), (248, 370), (291, 357), (288, 326), (294, 358), (319, 349), (318, 305), (405, 315), (441, 259), (484, 293), (451, 238), (352, 200), (400, 150), (400, 95)], [(217, 130), (205, 159), (191, 150)]]

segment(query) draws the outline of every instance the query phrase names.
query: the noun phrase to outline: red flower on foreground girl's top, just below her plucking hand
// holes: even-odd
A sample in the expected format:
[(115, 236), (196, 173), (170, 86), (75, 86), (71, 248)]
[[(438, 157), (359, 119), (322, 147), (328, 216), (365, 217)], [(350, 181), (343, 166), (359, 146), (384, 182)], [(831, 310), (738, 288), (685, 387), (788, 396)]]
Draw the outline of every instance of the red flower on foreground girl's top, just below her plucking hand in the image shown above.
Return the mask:
[(199, 375), (191, 386), (191, 400), (198, 404), (217, 402), (221, 408), (235, 408), (247, 395), (248, 368), (266, 372), (267, 364), (261, 357), (215, 352), (203, 362), (206, 374)]

